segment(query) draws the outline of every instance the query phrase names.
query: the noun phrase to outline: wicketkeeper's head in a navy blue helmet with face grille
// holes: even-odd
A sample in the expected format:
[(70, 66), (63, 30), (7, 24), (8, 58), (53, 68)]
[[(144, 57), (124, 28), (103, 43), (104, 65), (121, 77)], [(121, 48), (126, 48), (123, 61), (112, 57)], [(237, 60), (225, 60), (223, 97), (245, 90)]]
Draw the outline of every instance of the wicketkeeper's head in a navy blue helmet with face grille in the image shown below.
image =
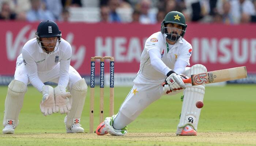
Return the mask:
[(61, 32), (58, 25), (51, 20), (40, 22), (35, 33), (38, 45), (46, 52), (54, 52), (61, 41)]

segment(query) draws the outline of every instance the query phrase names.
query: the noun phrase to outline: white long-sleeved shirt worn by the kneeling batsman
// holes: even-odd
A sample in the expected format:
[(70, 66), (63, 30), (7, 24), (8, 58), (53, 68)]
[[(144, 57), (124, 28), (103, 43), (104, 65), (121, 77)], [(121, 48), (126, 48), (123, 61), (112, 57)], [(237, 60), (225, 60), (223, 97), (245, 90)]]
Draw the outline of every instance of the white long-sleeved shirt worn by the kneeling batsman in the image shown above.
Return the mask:
[[(167, 51), (167, 46), (169, 48), (169, 51)], [(166, 38), (163, 36), (163, 34), (161, 32), (156, 32), (147, 39), (144, 50), (142, 51), (142, 55), (140, 57), (139, 73), (148, 79), (162, 80), (163, 78), (166, 78), (166, 73), (164, 71), (159, 72), (154, 69), (157, 66), (151, 65), (150, 56), (148, 54), (148, 51), (151, 49), (156, 49), (157, 53), (160, 54), (162, 62), (158, 62), (158, 64), (159, 66), (163, 66), (163, 68), (165, 68), (166, 66), (167, 68), (172, 70), (174, 70), (174, 67), (179, 68), (180, 64), (176, 64), (177, 61), (186, 62), (188, 66), (190, 65), (189, 58), (192, 54), (192, 46), (190, 43), (188, 43), (183, 38), (180, 41), (176, 42), (174, 45), (169, 45), (168, 43), (166, 43)], [(155, 55), (159, 56), (159, 54)], [(185, 69), (185, 67), (186, 66), (182, 66), (183, 70)]]

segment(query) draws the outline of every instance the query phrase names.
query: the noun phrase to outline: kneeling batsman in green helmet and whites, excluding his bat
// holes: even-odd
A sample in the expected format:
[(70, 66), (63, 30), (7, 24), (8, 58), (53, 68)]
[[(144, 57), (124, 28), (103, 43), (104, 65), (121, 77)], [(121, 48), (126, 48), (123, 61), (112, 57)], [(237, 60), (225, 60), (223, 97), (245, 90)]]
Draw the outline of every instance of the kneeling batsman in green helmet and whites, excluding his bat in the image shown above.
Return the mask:
[[(140, 69), (133, 80), (133, 87), (117, 115), (107, 117), (96, 129), (98, 135), (125, 135), (127, 125), (162, 95), (175, 95), (183, 91), (177, 135), (196, 135), (205, 86), (184, 84), (182, 79), (191, 74), (207, 72), (206, 67), (196, 64), (190, 67), (192, 46), (184, 39), (187, 24), (181, 12), (169, 12), (161, 23), (161, 31), (152, 34), (146, 41), (140, 57)], [(184, 74), (184, 75), (183, 75)]]

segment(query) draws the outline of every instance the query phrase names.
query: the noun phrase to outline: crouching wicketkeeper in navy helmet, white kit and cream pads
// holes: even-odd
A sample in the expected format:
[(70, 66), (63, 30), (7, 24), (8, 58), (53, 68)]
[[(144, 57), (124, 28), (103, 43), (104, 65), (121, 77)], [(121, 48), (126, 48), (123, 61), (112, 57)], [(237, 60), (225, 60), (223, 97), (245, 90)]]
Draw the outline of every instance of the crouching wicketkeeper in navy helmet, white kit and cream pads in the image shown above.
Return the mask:
[[(67, 114), (64, 118), (67, 133), (84, 132), (79, 123), (87, 85), (70, 66), (71, 55), (71, 45), (61, 38), (57, 24), (50, 20), (39, 23), (35, 38), (23, 46), (16, 61), (14, 80), (8, 85), (3, 134), (13, 134), (18, 126), (24, 95), (30, 83), (42, 93), (39, 107), (43, 115)], [(58, 85), (53, 88), (44, 84), (47, 81)]]

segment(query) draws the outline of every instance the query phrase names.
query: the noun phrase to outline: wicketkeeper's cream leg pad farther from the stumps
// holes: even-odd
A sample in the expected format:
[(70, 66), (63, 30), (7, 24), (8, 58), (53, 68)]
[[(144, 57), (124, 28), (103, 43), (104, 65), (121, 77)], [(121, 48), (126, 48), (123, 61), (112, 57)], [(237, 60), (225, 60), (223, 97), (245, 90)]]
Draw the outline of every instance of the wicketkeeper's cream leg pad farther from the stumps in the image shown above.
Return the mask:
[(8, 85), (7, 95), (4, 103), (4, 121), (3, 126), (12, 124), (18, 125), (19, 112), (23, 105), (24, 95), (27, 91), (27, 85), (23, 82), (12, 80)]

